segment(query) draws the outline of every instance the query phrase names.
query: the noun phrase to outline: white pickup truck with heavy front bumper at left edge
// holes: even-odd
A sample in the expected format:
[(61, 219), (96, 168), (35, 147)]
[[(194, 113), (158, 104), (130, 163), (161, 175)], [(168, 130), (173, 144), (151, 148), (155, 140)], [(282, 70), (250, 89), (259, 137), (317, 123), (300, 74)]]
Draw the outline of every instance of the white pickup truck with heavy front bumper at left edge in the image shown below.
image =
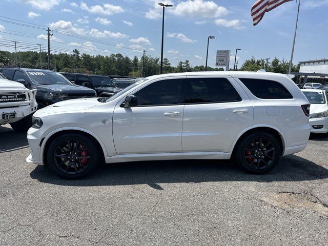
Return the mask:
[(0, 74), (0, 125), (10, 124), (16, 132), (27, 132), (37, 110), (36, 89), (29, 90)]

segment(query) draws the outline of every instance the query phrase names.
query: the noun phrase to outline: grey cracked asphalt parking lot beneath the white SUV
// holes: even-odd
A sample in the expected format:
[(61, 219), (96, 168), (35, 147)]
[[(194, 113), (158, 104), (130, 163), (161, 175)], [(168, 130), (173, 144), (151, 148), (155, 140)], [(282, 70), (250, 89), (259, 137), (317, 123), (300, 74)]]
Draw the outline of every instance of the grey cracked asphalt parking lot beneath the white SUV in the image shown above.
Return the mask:
[(65, 180), (28, 154), (0, 127), (0, 245), (328, 245), (328, 135), (265, 175), (189, 160)]

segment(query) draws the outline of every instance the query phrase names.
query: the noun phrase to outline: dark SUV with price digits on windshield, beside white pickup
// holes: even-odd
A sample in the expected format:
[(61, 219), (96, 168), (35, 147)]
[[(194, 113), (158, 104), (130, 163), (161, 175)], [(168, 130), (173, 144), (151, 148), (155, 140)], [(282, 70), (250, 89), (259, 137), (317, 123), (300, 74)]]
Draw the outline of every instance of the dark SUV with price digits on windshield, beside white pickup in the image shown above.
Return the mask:
[(0, 67), (0, 72), (28, 89), (37, 89), (38, 108), (68, 99), (96, 97), (94, 90), (74, 85), (60, 73), (50, 70)]

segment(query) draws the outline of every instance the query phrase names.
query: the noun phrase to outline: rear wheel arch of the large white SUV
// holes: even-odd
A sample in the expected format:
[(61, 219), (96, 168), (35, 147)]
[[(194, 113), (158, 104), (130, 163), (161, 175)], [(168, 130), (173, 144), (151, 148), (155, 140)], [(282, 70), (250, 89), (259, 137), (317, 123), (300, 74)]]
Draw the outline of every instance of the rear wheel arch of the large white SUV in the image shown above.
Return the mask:
[(281, 147), (281, 153), (280, 155), (283, 155), (285, 150), (285, 143), (286, 139), (282, 131), (276, 127), (268, 126), (268, 125), (259, 125), (259, 126), (252, 126), (251, 128), (244, 129), (234, 140), (233, 145), (231, 146), (230, 153), (232, 153), (232, 156), (234, 154), (234, 151), (236, 147), (238, 146), (239, 142), (248, 134), (257, 132), (257, 131), (265, 131), (271, 133), (273, 136), (277, 138), (279, 141), (280, 147)]

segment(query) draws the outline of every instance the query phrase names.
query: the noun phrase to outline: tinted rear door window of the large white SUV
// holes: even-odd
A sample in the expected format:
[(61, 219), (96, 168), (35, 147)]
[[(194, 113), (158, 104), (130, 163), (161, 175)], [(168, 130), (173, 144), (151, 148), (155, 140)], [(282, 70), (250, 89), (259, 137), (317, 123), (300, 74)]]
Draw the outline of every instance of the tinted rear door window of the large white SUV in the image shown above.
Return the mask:
[(185, 104), (241, 101), (238, 92), (227, 78), (187, 78), (183, 86)]

